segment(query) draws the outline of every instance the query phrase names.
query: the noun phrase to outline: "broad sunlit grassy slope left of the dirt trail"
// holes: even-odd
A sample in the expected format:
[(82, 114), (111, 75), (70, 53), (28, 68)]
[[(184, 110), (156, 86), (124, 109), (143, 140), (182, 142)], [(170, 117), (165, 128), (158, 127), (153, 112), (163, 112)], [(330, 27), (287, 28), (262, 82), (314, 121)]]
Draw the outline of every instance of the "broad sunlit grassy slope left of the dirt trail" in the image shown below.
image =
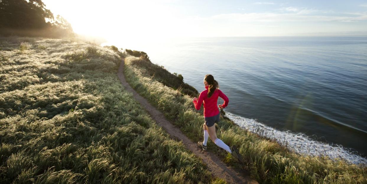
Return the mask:
[(135, 102), (121, 52), (0, 37), (0, 183), (221, 183)]

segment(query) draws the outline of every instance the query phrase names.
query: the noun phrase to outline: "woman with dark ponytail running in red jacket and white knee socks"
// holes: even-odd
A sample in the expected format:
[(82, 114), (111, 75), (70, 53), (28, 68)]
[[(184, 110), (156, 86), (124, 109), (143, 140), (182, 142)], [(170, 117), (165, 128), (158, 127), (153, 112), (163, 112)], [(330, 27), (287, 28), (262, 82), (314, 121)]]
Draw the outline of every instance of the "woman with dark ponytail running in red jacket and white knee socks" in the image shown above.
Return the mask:
[[(197, 144), (203, 148), (203, 150), (207, 150), (207, 142), (208, 137), (219, 147), (225, 149), (227, 152), (232, 154), (232, 150), (229, 148), (227, 144), (225, 144), (222, 140), (218, 139), (217, 134), (215, 133), (214, 124), (219, 122), (220, 113), (218, 107), (223, 109), (228, 106), (228, 97), (220, 90), (218, 82), (214, 80), (214, 77), (210, 74), (206, 75), (204, 78), (204, 85), (206, 90), (202, 91), (199, 95), (199, 99), (196, 97), (192, 99), (196, 110), (199, 110), (201, 104), (204, 102), (204, 118), (205, 123), (203, 124), (204, 128), (204, 141), (198, 142)], [(217, 101), (218, 97), (221, 97), (224, 100), (224, 103), (218, 105)], [(237, 158), (237, 149), (235, 148)]]

